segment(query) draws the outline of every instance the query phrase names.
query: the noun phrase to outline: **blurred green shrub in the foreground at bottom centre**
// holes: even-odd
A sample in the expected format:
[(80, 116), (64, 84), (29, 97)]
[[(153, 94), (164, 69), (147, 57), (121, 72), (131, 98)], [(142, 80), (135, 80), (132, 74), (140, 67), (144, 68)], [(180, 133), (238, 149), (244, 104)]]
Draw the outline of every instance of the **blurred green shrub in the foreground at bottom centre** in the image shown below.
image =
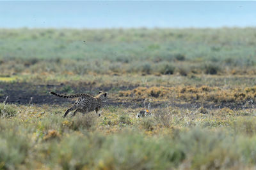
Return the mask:
[(109, 137), (102, 148), (97, 169), (175, 169), (186, 158), (171, 139), (148, 140), (129, 132)]

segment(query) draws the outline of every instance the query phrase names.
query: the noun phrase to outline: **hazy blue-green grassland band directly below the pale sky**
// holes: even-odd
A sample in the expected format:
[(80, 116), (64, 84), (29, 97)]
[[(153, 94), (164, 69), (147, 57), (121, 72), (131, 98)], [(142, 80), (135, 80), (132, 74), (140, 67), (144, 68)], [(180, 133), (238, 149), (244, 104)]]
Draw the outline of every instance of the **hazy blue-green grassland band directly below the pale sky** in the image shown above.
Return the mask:
[(255, 37), (255, 28), (1, 29), (1, 73), (255, 74)]

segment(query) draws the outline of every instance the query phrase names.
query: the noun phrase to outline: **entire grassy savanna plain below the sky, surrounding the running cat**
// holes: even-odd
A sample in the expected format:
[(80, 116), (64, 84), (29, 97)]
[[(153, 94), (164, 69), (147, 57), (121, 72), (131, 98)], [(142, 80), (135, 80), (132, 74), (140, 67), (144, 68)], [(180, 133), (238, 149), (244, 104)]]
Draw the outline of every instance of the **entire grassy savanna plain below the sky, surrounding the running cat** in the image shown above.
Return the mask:
[[(0, 29), (0, 169), (255, 169), (255, 46), (253, 27)], [(49, 94), (100, 90), (101, 117)]]

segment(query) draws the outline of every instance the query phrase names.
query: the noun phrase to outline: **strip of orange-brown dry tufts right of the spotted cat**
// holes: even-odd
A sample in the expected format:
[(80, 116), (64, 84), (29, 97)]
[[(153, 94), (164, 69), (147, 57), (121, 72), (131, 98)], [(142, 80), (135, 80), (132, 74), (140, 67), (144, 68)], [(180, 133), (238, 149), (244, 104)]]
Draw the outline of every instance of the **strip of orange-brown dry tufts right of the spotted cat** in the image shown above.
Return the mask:
[[(132, 97), (133, 99), (173, 99), (175, 101), (186, 101), (200, 103), (232, 103), (244, 104), (246, 102), (255, 103), (256, 87), (246, 87), (244, 89), (221, 89), (220, 87), (137, 87), (133, 90), (120, 91), (119, 97)], [(126, 98), (127, 99), (127, 98)]]

